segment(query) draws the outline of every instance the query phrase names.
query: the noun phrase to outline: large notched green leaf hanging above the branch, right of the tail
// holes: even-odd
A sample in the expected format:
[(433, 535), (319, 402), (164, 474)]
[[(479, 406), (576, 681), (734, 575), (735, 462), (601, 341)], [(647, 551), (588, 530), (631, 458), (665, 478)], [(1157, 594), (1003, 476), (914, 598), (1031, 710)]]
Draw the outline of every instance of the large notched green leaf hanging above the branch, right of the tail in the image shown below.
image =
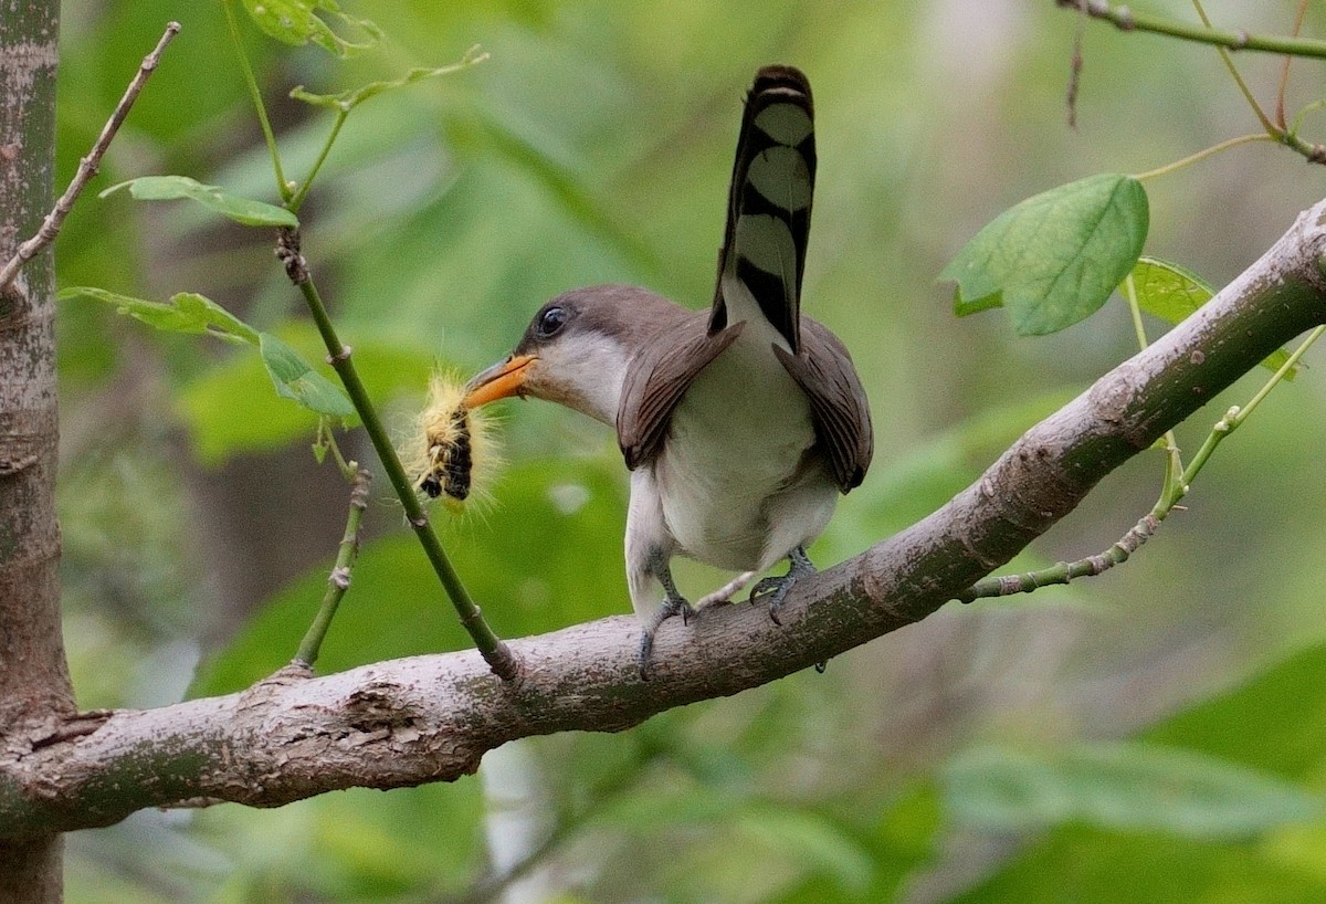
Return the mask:
[(957, 282), (959, 317), (1004, 305), (1018, 335), (1057, 333), (1093, 314), (1128, 274), (1148, 216), (1136, 179), (1090, 176), (997, 216), (939, 278)]

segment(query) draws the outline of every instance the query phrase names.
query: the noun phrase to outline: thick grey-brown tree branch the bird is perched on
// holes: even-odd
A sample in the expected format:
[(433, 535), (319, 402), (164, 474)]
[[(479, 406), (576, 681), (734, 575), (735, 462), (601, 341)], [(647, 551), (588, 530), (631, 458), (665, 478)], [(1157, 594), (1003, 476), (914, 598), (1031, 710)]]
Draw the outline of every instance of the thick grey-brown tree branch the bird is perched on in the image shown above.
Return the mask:
[[(705, 611), (659, 632), (638, 675), (619, 616), (512, 642), (525, 668), (495, 677), (476, 652), (394, 660), (324, 679), (117, 712), (11, 740), (0, 838), (102, 826), (147, 806), (278, 806), (347, 786), (399, 787), (475, 771), (485, 750), (562, 730), (619, 730), (733, 695), (916, 622), (1066, 516), (1270, 351), (1326, 322), (1326, 201), (1195, 317), (1028, 431), (939, 512), (760, 607)], [(371, 603), (367, 603), (371, 604)]]

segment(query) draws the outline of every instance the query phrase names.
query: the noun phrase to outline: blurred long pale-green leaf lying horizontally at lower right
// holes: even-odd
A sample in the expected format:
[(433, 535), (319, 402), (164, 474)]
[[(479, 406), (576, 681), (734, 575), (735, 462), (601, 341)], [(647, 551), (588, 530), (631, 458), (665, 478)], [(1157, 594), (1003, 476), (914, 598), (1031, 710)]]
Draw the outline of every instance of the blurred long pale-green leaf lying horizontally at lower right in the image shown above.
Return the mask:
[(1147, 744), (977, 748), (949, 761), (943, 783), (951, 813), (987, 831), (1079, 823), (1233, 839), (1323, 813), (1318, 797), (1266, 773)]

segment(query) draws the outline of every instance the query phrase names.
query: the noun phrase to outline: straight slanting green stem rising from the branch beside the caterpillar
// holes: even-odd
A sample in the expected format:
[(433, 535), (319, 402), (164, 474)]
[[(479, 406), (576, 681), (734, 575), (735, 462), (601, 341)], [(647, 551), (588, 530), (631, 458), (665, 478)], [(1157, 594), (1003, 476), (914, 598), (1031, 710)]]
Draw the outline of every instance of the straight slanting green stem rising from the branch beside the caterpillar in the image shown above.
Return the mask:
[(456, 574), (455, 567), (452, 567), (451, 559), (447, 557), (446, 550), (442, 547), (442, 542), (438, 539), (438, 534), (432, 530), (432, 525), (428, 524), (428, 516), (423, 510), (423, 505), (420, 505), (419, 497), (415, 494), (414, 485), (406, 475), (404, 467), (400, 464), (400, 457), (391, 445), (391, 439), (387, 436), (387, 431), (382, 425), (382, 420), (378, 418), (378, 411), (369, 399), (369, 392), (363, 387), (363, 383), (359, 379), (359, 372), (354, 367), (350, 347), (343, 345), (337, 335), (335, 327), (332, 325), (332, 318), (328, 315), (326, 306), (322, 304), (322, 297), (318, 294), (317, 286), (313, 284), (308, 262), (300, 253), (298, 231), (280, 231), (277, 257), (285, 265), (285, 273), (290, 278), (290, 282), (300, 289), (304, 294), (304, 300), (308, 302), (309, 311), (313, 314), (313, 321), (317, 323), (318, 333), (322, 335), (322, 342), (326, 345), (328, 361), (341, 378), (341, 382), (350, 396), (350, 402), (359, 414), (359, 419), (363, 422), (363, 429), (369, 435), (373, 448), (377, 451), (378, 457), (382, 460), (382, 467), (387, 472), (387, 480), (391, 481), (391, 486), (396, 490), (396, 496), (400, 498), (400, 505), (406, 510), (406, 518), (410, 521), (410, 526), (414, 528), (415, 536), (418, 536), (424, 554), (428, 557), (434, 571), (436, 571), (443, 589), (447, 591), (447, 596), (451, 598), (451, 604), (456, 607), (456, 614), (460, 615), (460, 624), (469, 634), (471, 639), (473, 639), (475, 647), (477, 647), (480, 655), (484, 657), (484, 661), (488, 663), (488, 667), (495, 675), (503, 680), (512, 680), (517, 677), (520, 668), (514, 655), (511, 652), (511, 648), (507, 647), (507, 644), (503, 643), (496, 634), (493, 634), (493, 630), (488, 627), (483, 612), (479, 606), (475, 604), (475, 600), (469, 598), (469, 591), (465, 590), (465, 585), (460, 581), (460, 575)]

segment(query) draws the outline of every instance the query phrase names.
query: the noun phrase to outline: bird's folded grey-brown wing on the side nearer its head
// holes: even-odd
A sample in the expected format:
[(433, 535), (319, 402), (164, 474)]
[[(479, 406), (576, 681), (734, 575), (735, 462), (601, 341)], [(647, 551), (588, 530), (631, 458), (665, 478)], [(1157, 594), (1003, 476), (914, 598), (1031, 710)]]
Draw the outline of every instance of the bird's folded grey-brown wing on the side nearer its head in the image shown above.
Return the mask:
[(617, 406), (617, 441), (627, 468), (635, 471), (658, 455), (691, 380), (741, 335), (744, 325), (709, 333), (705, 315), (696, 313), (659, 330), (631, 359)]

